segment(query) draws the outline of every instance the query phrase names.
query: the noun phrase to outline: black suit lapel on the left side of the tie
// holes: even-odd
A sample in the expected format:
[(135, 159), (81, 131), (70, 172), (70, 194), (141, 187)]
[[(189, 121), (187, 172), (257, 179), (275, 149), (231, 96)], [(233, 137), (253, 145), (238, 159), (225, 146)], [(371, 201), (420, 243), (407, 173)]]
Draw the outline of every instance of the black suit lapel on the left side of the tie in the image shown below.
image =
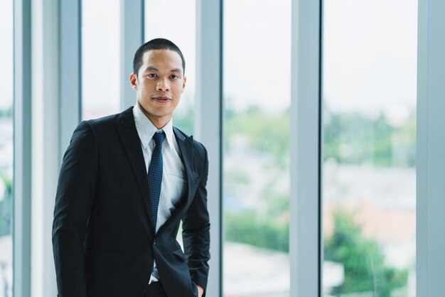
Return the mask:
[[(132, 165), (134, 178), (139, 187), (139, 191), (141, 192), (141, 198), (144, 202), (146, 214), (153, 226), (153, 218), (149, 215), (149, 213), (151, 213), (151, 205), (149, 202), (149, 181), (145, 168), (144, 153), (142, 153), (141, 140), (139, 139), (136, 125), (134, 124), (133, 108), (130, 107), (122, 112), (114, 124), (122, 139), (122, 144), (127, 152), (130, 164)], [(152, 233), (151, 235), (154, 235), (153, 228), (149, 229)]]

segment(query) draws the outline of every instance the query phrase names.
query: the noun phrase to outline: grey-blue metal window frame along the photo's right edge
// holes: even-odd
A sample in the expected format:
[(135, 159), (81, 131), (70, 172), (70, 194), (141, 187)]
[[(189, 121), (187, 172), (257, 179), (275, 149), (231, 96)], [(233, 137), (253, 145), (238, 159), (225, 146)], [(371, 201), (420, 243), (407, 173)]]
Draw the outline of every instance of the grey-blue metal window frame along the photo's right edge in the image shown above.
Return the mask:
[(419, 0), (417, 48), (417, 296), (445, 291), (445, 2)]

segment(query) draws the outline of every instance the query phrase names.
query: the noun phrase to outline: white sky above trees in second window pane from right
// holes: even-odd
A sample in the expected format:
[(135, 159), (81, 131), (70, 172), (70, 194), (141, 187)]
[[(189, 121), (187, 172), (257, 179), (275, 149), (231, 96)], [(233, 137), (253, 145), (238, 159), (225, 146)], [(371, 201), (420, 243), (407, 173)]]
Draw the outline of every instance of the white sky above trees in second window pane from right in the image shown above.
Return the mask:
[(291, 1), (226, 0), (223, 32), (226, 107), (289, 107)]

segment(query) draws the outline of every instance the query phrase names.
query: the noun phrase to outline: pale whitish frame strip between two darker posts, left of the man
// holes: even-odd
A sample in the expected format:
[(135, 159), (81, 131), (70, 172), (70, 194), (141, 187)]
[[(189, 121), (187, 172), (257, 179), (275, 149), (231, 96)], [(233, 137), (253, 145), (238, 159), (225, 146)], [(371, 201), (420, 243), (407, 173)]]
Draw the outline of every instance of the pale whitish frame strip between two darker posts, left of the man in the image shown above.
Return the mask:
[(59, 168), (58, 0), (31, 1), (31, 296), (55, 296), (51, 226)]

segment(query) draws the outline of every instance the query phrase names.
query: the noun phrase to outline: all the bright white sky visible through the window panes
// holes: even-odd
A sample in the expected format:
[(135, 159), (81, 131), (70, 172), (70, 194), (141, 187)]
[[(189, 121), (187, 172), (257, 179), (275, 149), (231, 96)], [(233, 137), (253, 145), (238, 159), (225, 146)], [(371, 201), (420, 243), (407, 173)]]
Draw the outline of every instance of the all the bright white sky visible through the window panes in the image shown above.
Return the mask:
[[(105, 5), (106, 4), (106, 5)], [(175, 10), (170, 8), (174, 6)], [(171, 38), (187, 62), (186, 106), (195, 90), (195, 0), (146, 1), (146, 40)], [(400, 9), (403, 7), (404, 9)], [(254, 8), (254, 9), (252, 9)], [(85, 1), (84, 105), (119, 111), (119, 1)], [(101, 18), (97, 18), (97, 13)], [(326, 0), (323, 9), (323, 99), (337, 111), (394, 113), (415, 107), (416, 0)], [(0, 1), (0, 108), (12, 103), (12, 0)], [(290, 104), (291, 0), (224, 2), (225, 105)], [(107, 48), (107, 50), (101, 50)], [(97, 77), (97, 70), (106, 73)], [(105, 92), (105, 94), (104, 94)]]

